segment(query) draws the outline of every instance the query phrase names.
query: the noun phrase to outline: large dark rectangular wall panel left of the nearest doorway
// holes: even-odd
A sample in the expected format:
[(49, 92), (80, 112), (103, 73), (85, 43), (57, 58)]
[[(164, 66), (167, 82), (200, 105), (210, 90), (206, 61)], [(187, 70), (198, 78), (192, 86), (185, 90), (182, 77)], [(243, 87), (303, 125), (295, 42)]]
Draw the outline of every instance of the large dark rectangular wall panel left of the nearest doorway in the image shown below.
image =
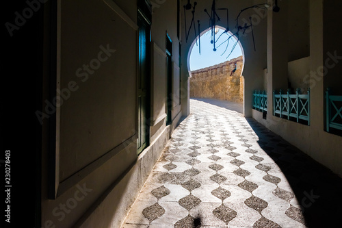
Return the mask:
[[(79, 86), (60, 107), (63, 181), (135, 134), (137, 31), (101, 0), (62, 1), (61, 14), (60, 88)], [(93, 69), (101, 45), (116, 51)]]

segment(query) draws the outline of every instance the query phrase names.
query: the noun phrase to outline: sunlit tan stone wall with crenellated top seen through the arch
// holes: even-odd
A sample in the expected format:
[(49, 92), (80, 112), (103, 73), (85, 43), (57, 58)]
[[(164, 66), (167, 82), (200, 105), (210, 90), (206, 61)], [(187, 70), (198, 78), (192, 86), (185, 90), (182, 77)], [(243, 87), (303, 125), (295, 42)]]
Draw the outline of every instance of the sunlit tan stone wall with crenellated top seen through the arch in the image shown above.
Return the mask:
[[(237, 70), (231, 76), (237, 64)], [(192, 71), (190, 97), (213, 98), (237, 103), (244, 102), (244, 77), (241, 76), (242, 56)]]

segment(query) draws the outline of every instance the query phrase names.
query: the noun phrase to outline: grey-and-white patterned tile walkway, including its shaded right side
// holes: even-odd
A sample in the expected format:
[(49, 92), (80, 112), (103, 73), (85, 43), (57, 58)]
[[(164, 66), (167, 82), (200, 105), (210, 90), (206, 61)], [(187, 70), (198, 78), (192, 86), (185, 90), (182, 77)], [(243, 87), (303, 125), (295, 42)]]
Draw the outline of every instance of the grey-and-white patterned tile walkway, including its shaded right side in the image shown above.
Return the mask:
[(342, 227), (341, 178), (238, 112), (190, 104), (122, 228)]

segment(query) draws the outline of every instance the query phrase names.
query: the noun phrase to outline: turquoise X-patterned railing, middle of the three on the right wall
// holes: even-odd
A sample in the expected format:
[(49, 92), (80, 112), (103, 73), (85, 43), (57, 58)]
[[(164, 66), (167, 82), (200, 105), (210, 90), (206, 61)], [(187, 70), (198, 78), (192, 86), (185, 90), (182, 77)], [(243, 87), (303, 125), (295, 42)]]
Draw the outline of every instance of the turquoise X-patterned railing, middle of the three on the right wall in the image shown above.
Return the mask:
[(295, 94), (290, 93), (291, 90), (287, 90), (286, 94), (282, 90), (279, 94), (273, 92), (273, 115), (279, 114), (280, 118), (287, 117), (288, 120), (294, 118), (297, 123), (304, 120), (310, 125), (310, 90), (308, 94), (301, 94), (300, 89)]

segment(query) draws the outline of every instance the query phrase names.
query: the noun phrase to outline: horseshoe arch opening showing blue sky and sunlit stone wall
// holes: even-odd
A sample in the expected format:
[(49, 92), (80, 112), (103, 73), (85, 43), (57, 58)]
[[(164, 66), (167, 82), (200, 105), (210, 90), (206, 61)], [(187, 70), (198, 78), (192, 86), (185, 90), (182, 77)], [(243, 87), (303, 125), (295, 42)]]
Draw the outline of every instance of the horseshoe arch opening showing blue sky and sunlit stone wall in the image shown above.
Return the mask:
[(190, 99), (222, 101), (243, 112), (244, 60), (244, 49), (230, 31), (220, 26), (202, 31), (187, 55)]

